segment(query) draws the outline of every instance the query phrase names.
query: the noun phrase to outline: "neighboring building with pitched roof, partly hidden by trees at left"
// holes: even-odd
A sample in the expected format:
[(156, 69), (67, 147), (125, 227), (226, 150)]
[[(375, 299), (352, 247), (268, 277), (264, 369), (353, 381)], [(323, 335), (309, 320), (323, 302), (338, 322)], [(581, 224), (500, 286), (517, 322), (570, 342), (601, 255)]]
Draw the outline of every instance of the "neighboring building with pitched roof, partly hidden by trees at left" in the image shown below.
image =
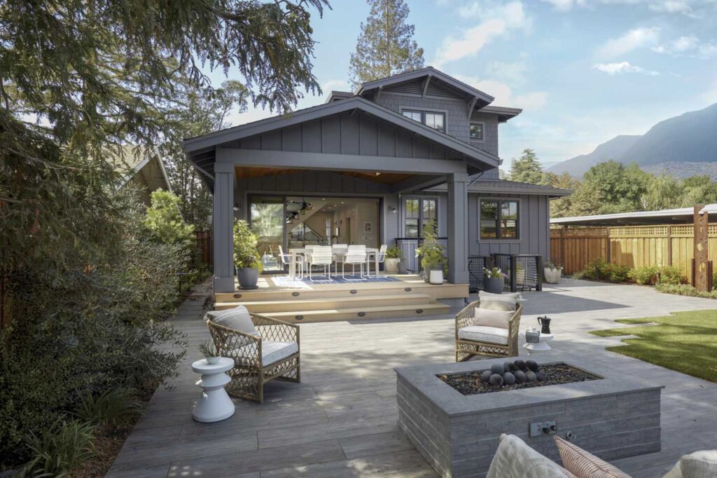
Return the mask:
[(120, 173), (120, 187), (134, 184), (138, 187), (141, 202), (151, 205), (151, 195), (157, 189), (171, 191), (164, 162), (156, 149), (148, 150), (137, 146), (124, 146), (123, 157), (108, 155), (108, 162)]

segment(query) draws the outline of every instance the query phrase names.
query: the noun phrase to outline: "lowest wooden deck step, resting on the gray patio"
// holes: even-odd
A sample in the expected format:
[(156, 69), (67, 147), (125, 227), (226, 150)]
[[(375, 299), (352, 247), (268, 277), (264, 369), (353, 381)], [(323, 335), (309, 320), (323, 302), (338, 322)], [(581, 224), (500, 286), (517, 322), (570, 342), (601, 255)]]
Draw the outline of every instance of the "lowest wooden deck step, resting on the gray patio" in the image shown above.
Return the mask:
[(450, 307), (446, 304), (413, 304), (391, 305), (379, 307), (362, 307), (356, 309), (327, 309), (290, 312), (270, 312), (267, 317), (305, 324), (307, 322), (332, 322), (338, 320), (387, 319), (393, 317), (422, 317), (447, 314)]

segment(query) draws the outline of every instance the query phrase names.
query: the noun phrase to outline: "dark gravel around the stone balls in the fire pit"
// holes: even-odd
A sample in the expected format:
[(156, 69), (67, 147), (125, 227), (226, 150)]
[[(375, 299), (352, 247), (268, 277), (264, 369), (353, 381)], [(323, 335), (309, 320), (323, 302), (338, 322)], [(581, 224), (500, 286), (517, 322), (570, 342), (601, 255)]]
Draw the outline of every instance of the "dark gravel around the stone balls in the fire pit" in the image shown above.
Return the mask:
[(526, 381), (524, 383), (513, 383), (512, 385), (490, 385), (488, 382), (480, 380), (481, 373), (484, 370), (475, 370), (473, 372), (454, 373), (450, 375), (437, 375), (438, 378), (458, 390), (463, 395), (475, 395), (477, 393), (493, 393), (504, 392), (505, 390), (519, 390), (521, 388), (545, 387), (546, 385), (560, 385), (562, 383), (585, 382), (587, 380), (598, 380), (597, 375), (584, 372), (570, 365), (554, 364), (543, 365), (538, 368), (539, 371), (545, 372), (546, 380)]

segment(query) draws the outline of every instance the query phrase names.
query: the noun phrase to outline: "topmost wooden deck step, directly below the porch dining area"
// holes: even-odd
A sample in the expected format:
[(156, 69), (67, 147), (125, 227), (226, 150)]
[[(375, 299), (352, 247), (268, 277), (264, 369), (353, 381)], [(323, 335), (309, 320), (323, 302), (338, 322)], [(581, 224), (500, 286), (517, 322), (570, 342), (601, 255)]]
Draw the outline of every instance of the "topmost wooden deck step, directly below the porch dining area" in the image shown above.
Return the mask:
[(342, 284), (317, 284), (307, 289), (256, 289), (214, 294), (220, 302), (285, 301), (304, 299), (330, 299), (352, 296), (395, 296), (402, 294), (427, 294), (432, 299), (461, 299), (468, 296), (468, 284), (444, 283), (435, 286), (424, 281), (370, 282)]

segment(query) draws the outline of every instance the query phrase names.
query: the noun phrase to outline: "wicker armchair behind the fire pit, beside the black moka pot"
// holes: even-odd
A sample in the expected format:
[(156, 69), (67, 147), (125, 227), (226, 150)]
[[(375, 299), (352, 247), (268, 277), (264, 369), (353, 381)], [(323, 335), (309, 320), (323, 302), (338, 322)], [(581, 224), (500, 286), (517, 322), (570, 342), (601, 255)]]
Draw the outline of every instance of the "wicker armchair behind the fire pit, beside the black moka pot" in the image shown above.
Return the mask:
[(518, 356), (518, 327), (521, 324), (521, 311), (523, 306), (516, 304), (516, 312), (508, 322), (508, 345), (491, 342), (477, 342), (475, 340), (459, 338), (458, 330), (468, 327), (473, 322), (474, 310), (480, 306), (480, 301), (471, 302), (465, 309), (455, 316), (455, 361), (464, 362), (473, 355), (487, 355), (488, 357), (517, 357)]

